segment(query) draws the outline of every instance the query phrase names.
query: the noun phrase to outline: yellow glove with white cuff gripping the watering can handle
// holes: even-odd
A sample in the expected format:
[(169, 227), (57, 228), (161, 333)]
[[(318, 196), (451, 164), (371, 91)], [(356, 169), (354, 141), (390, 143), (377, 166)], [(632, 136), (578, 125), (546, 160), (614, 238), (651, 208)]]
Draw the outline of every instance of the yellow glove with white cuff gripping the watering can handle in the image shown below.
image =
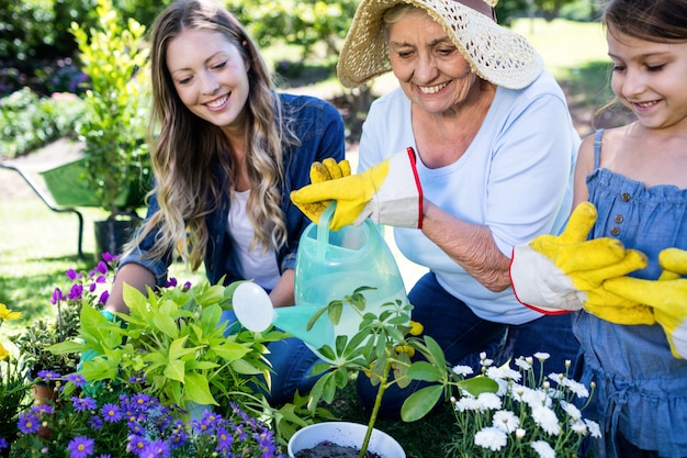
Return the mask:
[(417, 228), (423, 222), (423, 189), (415, 160), (415, 152), (407, 148), (362, 174), (313, 182), (291, 192), (291, 200), (315, 223), (335, 200), (333, 231), (359, 225), (367, 217), (378, 224)]

